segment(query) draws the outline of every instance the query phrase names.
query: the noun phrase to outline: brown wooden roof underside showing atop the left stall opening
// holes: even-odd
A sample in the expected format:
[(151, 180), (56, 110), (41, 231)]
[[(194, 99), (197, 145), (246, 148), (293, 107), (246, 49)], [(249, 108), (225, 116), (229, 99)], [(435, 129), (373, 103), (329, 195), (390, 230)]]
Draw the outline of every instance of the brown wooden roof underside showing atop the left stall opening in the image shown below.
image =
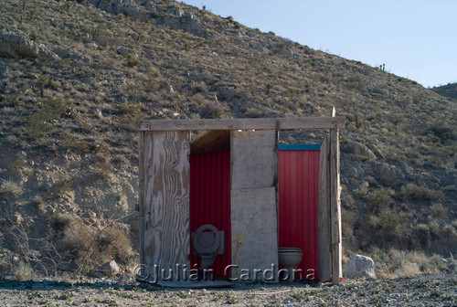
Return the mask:
[(211, 130), (190, 143), (190, 154), (208, 154), (229, 149), (229, 130)]

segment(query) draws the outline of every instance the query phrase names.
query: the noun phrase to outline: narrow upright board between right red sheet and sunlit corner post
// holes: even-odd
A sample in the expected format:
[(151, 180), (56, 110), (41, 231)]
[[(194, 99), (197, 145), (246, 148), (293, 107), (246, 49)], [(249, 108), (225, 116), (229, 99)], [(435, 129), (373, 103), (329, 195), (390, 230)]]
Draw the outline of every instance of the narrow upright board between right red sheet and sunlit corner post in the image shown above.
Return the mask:
[(332, 255), (330, 238), (330, 167), (328, 161), (329, 138), (324, 138), (319, 158), (319, 198), (317, 206), (317, 231), (319, 249), (319, 278), (332, 278)]

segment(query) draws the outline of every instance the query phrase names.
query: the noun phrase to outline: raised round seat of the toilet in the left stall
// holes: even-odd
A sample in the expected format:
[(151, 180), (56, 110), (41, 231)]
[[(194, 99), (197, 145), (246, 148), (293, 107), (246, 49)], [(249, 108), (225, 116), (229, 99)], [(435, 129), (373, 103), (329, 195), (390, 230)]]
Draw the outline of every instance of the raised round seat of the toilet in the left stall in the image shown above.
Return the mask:
[(220, 246), (220, 232), (218, 228), (210, 224), (205, 224), (197, 228), (197, 231), (192, 234), (193, 248), (200, 255), (215, 254)]

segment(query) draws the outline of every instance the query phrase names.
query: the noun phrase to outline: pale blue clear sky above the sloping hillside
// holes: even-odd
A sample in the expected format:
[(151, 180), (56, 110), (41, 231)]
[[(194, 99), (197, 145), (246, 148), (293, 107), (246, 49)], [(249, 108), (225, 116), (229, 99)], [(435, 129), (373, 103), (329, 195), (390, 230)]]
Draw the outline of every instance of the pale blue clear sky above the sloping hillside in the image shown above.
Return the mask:
[(186, 0), (425, 87), (457, 82), (457, 0)]

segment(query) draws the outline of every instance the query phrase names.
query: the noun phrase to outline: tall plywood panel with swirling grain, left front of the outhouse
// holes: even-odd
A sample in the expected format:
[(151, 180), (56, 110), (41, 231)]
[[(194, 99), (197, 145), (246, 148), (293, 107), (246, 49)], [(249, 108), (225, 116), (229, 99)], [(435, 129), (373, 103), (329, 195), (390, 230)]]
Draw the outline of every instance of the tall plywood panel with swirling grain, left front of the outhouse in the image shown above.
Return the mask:
[(190, 132), (143, 135), (143, 264), (148, 268), (189, 266), (189, 141)]

